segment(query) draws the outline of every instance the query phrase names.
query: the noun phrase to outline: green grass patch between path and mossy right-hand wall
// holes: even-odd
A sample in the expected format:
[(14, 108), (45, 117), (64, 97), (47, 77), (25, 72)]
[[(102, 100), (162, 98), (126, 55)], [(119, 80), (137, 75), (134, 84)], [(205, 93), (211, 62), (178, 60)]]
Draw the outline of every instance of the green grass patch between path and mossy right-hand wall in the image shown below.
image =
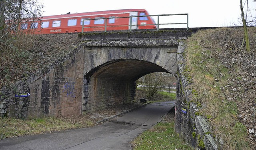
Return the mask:
[(134, 150), (194, 150), (174, 132), (174, 122), (158, 123), (132, 142)]

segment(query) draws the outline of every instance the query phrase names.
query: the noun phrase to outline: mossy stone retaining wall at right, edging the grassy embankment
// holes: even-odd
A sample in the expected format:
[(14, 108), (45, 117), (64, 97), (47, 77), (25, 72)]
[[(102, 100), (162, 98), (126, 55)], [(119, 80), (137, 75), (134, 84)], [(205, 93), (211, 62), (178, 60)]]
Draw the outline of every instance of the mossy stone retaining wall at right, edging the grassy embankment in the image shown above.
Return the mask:
[(175, 107), (175, 132), (180, 135), (186, 143), (198, 150), (218, 150), (219, 142), (214, 139), (208, 120), (204, 116), (198, 116), (198, 106), (190, 101), (188, 82), (182, 74), (184, 70), (184, 45), (180, 42), (178, 46), (178, 77)]

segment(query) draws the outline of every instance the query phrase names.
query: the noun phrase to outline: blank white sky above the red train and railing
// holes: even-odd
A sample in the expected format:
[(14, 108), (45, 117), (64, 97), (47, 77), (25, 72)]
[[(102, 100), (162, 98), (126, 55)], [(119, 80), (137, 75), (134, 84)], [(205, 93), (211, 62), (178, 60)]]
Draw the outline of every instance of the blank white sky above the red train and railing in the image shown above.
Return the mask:
[[(138, 8), (150, 15), (188, 13), (188, 26), (234, 26), (240, 18), (240, 0), (39, 0), (44, 5), (43, 16)], [(243, 0), (244, 1), (244, 0)], [(256, 2), (249, 0), (252, 15), (256, 16)], [(172, 20), (182, 20), (180, 17)], [(155, 19), (156, 20), (156, 19)], [(167, 19), (166, 19), (167, 20)], [(174, 22), (174, 23), (178, 23)], [(162, 22), (160, 22), (162, 23)], [(170, 23), (170, 22), (168, 22)], [(183, 25), (184, 26), (184, 25)], [(182, 27), (183, 27), (182, 26)]]

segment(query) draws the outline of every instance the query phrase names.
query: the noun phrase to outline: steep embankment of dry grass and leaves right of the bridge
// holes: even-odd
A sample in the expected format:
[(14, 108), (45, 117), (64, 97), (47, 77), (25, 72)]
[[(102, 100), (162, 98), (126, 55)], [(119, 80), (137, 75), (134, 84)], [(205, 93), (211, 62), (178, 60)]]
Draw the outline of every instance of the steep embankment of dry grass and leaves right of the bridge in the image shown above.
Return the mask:
[[(240, 113), (237, 105), (249, 102), (248, 95), (255, 96), (255, 90), (244, 82), (254, 78), (250, 69), (246, 70), (250, 68), (246, 66), (248, 60), (255, 63), (255, 29), (249, 31), (253, 42), (250, 53), (241, 46), (242, 28), (203, 30), (186, 41), (184, 74), (191, 83), (192, 101), (205, 106), (200, 114), (209, 119), (214, 136), (224, 140), (225, 150), (251, 149), (247, 128), (237, 117)], [(255, 67), (251, 68), (252, 74), (254, 70)]]

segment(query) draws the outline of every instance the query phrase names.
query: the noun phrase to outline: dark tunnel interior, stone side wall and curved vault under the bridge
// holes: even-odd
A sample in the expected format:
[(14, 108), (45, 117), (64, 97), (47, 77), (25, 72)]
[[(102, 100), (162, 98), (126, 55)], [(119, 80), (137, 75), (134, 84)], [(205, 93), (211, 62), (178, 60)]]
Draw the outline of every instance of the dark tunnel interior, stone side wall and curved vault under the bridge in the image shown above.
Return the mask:
[(84, 76), (82, 111), (94, 112), (133, 102), (136, 81), (153, 72), (170, 74), (157, 64), (136, 59), (114, 60), (94, 68)]

